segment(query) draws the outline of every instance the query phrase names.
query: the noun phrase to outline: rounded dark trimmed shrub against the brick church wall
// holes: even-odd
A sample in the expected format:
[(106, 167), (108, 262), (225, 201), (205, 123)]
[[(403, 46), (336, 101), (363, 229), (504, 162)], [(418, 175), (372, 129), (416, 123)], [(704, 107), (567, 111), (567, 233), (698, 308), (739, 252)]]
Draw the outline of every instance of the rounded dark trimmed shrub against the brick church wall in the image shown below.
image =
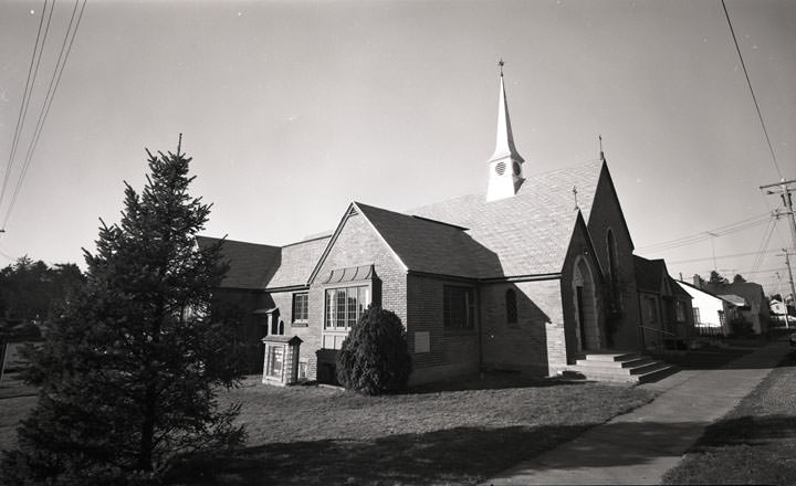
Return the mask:
[(337, 381), (368, 395), (406, 390), (411, 369), (404, 324), (379, 306), (365, 310), (337, 355)]

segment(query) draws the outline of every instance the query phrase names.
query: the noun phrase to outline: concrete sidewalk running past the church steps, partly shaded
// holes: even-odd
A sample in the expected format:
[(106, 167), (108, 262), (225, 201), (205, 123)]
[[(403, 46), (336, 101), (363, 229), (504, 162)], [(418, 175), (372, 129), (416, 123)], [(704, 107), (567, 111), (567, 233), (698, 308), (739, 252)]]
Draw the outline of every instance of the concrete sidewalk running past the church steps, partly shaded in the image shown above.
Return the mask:
[(683, 370), (642, 384), (661, 394), (484, 484), (660, 484), (704, 429), (752, 392), (787, 352), (786, 340), (774, 341), (722, 369)]

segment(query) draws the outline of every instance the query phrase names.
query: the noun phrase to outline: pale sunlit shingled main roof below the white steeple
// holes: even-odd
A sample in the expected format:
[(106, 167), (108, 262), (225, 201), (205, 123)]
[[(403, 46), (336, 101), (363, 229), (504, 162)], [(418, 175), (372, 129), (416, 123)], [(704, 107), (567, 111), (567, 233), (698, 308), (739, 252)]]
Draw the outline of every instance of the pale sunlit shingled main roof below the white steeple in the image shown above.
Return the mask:
[(481, 192), (409, 212), (468, 228), (472, 240), (498, 257), (501, 273), (490, 277), (558, 273), (577, 209), (588, 221), (601, 168), (593, 161), (530, 176), (513, 198), (486, 202)]

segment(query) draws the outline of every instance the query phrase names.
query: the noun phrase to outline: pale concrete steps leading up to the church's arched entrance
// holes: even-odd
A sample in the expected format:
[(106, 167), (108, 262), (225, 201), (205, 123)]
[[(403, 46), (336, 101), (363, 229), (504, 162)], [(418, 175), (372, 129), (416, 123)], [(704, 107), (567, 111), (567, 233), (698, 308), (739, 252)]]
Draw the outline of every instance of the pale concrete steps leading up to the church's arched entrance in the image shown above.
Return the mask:
[(568, 371), (588, 380), (618, 383), (647, 383), (678, 371), (673, 364), (653, 360), (636, 352), (587, 352)]

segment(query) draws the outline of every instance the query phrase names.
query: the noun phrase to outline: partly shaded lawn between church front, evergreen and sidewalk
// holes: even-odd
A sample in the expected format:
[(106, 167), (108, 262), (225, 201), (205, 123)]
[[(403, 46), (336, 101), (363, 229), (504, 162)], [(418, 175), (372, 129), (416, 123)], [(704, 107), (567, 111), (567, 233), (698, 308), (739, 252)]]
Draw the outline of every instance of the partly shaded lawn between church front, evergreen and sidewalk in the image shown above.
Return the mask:
[(178, 471), (177, 483), (473, 484), (651, 399), (506, 373), (377, 398), (251, 378), (223, 395), (243, 403), (247, 447)]

